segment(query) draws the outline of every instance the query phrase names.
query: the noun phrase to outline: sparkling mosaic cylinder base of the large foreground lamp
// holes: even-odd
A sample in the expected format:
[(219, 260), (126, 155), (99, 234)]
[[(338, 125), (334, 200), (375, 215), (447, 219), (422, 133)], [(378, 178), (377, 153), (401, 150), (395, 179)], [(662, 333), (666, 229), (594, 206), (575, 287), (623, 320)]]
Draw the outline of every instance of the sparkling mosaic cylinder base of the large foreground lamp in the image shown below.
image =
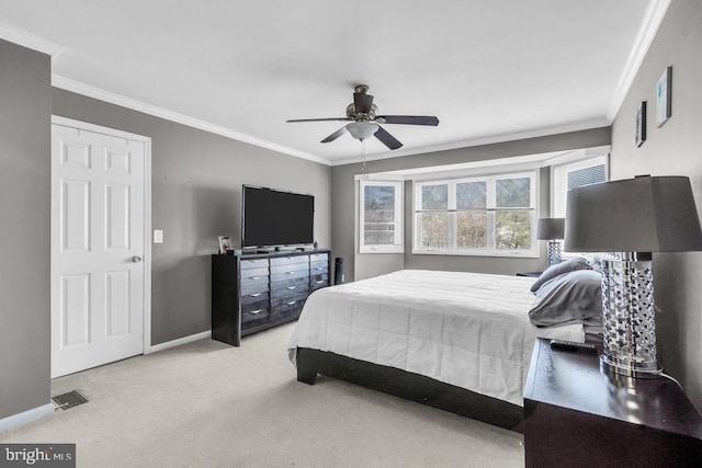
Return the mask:
[(614, 253), (602, 266), (602, 368), (630, 377), (660, 375), (650, 253)]

